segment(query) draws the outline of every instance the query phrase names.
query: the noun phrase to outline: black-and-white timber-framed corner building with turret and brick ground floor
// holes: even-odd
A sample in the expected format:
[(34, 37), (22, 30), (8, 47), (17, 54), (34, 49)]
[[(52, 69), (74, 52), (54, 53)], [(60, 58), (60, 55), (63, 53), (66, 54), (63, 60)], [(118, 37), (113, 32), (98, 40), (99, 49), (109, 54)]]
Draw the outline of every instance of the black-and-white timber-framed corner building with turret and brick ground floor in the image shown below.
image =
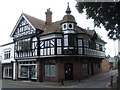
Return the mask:
[(46, 21), (22, 13), (11, 37), (17, 62), (17, 79), (34, 81), (78, 80), (101, 72), (104, 42), (95, 30), (77, 26), (69, 5), (60, 21)]

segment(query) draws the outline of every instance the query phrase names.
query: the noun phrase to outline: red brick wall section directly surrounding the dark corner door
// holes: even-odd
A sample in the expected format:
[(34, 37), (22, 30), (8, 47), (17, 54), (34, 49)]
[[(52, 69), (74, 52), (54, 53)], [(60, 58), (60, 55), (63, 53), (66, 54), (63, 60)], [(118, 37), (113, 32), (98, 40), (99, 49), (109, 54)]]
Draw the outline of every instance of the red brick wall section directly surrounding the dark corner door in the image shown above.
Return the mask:
[(61, 78), (65, 78), (65, 63), (73, 63), (73, 80), (77, 80), (80, 77), (81, 73), (80, 60), (78, 60), (77, 58), (68, 57), (58, 60), (58, 81), (60, 81)]

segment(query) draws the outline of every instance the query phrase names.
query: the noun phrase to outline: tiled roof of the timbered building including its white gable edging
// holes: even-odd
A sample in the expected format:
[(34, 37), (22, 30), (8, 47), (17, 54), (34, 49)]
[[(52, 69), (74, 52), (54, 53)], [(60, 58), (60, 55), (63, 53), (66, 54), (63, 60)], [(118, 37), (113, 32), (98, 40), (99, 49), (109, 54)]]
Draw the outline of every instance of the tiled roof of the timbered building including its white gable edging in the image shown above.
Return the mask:
[[(43, 32), (41, 33), (41, 35), (45, 35), (45, 34), (49, 34), (49, 33), (54, 33), (54, 32), (62, 32), (62, 28), (61, 28), (61, 23), (63, 23), (64, 20), (59, 20), (56, 22), (52, 22), (49, 25), (45, 25), (45, 21), (40, 20), (38, 18), (35, 18), (33, 16), (30, 16), (28, 14), (22, 13), (17, 24), (15, 25), (12, 33), (11, 33), (11, 37), (14, 35), (14, 32), (18, 26), (18, 24), (20, 23), (21, 19), (24, 18), (34, 30), (42, 30)], [(81, 33), (81, 34), (87, 34), (91, 37), (94, 37), (96, 34), (95, 30), (85, 30), (79, 26), (77, 26), (76, 28), (77, 33)], [(96, 39), (99, 39), (101, 41), (103, 41), (98, 35), (95, 36)], [(104, 42), (104, 41), (103, 41)]]

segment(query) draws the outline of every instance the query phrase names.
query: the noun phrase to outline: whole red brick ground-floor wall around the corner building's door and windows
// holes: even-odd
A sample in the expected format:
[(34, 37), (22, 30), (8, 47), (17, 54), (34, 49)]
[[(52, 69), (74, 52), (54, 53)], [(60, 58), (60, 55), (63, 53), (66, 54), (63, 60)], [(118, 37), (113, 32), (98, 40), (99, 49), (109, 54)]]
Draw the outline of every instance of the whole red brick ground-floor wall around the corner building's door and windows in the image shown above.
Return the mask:
[[(82, 75), (82, 63), (84, 63), (83, 58), (78, 58), (78, 57), (64, 57), (64, 58), (54, 58), (56, 60), (56, 77), (51, 78), (51, 77), (45, 77), (44, 76), (44, 60), (42, 63), (42, 77), (43, 81), (50, 81), (50, 82), (59, 82), (61, 79), (65, 79), (65, 69), (64, 65), (65, 63), (72, 63), (73, 64), (73, 80), (78, 80), (78, 78), (83, 78)], [(88, 60), (86, 59), (86, 62), (89, 64), (89, 75), (91, 76), (91, 63), (93, 63), (93, 68), (94, 68), (94, 74), (100, 73), (101, 68), (96, 68), (95, 63), (97, 59), (91, 59)], [(97, 60), (98, 61), (98, 60)], [(100, 61), (100, 60), (99, 60)], [(39, 72), (40, 74), (40, 72)], [(40, 77), (40, 75), (38, 75)]]

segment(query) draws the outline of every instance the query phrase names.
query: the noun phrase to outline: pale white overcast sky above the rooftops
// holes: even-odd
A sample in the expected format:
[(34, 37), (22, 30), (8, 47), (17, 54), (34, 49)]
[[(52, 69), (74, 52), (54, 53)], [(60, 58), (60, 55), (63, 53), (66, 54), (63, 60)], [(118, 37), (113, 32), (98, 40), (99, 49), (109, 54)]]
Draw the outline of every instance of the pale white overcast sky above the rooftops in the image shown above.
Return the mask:
[(94, 28), (92, 19), (86, 19), (85, 14), (78, 13), (75, 8), (76, 0), (0, 0), (0, 45), (13, 41), (10, 34), (22, 13), (45, 20), (45, 12), (50, 8), (53, 13), (52, 21), (54, 22), (61, 20), (66, 14), (67, 2), (69, 2), (71, 14), (75, 17), (77, 25), (82, 28), (95, 29), (102, 39), (107, 42), (105, 45), (106, 55), (109, 54), (112, 57), (117, 55), (117, 41), (110, 40), (107, 37), (107, 31), (103, 27)]

